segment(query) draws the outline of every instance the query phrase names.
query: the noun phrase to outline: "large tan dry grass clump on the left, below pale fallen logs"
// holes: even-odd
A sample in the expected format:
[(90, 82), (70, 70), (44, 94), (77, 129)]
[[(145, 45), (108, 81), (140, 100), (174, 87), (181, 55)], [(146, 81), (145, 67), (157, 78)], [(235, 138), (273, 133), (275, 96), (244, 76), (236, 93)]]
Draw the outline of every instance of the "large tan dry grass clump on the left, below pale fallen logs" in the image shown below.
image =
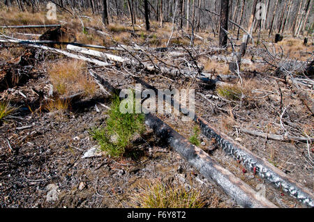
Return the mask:
[(87, 76), (87, 67), (83, 61), (59, 61), (51, 64), (47, 72), (59, 95), (73, 95), (83, 91), (87, 96), (96, 92), (97, 86)]

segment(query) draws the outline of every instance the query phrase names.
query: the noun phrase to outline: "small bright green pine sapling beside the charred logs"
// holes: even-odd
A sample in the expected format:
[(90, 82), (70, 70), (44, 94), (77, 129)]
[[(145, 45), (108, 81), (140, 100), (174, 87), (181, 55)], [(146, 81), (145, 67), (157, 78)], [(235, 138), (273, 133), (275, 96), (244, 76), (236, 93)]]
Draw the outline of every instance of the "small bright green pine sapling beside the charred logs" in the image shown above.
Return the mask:
[(136, 133), (141, 134), (144, 131), (144, 114), (136, 114), (135, 106), (133, 106), (133, 113), (121, 113), (120, 104), (119, 97), (115, 96), (105, 127), (91, 130), (91, 135), (98, 141), (101, 150), (112, 157), (120, 157), (124, 154), (125, 148), (131, 145), (130, 139)]

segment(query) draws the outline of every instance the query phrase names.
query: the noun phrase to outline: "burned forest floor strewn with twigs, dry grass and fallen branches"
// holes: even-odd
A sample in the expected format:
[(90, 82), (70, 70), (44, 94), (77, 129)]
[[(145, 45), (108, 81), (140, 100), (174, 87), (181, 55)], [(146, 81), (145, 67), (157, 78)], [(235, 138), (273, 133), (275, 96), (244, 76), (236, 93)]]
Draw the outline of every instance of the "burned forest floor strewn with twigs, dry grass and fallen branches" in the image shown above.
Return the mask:
[[(59, 24), (29, 14), (3, 12), (0, 21)], [(145, 207), (140, 197), (156, 183), (196, 193), (201, 207), (241, 207), (147, 126), (119, 157), (101, 150), (87, 157), (99, 148), (91, 132), (105, 127), (112, 106), (93, 73), (119, 89), (135, 89), (141, 79), (158, 89), (195, 90), (197, 116), (313, 194), (313, 38), (303, 45), (303, 38), (285, 34), (274, 43), (274, 35), (261, 33), (257, 41), (256, 33), (232, 72), (237, 29), (221, 49), (217, 33), (197, 32), (191, 45), (190, 30), (174, 26), (172, 33), (171, 23), (151, 22), (145, 31), (143, 21), (105, 27), (87, 15), (80, 18), (84, 28), (62, 14), (61, 28), (0, 29), (0, 207)], [(14, 42), (20, 40), (29, 42)], [(80, 43), (94, 55), (55, 42)], [(225, 154), (182, 114), (156, 116), (255, 191), (263, 184), (277, 207), (305, 207)]]

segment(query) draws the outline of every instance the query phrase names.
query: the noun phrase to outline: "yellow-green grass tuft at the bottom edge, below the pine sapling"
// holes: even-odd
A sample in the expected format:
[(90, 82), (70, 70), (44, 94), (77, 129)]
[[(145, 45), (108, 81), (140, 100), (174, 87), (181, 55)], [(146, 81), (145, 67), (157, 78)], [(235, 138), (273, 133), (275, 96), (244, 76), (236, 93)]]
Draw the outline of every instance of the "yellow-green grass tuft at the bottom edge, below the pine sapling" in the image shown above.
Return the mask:
[(201, 208), (205, 205), (200, 191), (186, 191), (184, 186), (174, 187), (161, 182), (147, 185), (133, 200), (141, 208)]

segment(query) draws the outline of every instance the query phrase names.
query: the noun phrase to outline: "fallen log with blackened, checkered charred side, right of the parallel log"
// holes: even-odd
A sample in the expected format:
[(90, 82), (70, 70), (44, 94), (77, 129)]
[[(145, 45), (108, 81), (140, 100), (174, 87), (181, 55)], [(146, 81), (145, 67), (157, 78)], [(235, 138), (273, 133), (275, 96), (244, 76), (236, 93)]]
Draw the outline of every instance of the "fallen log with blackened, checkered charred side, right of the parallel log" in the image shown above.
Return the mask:
[[(156, 95), (158, 94), (159, 90), (154, 86), (149, 85), (143, 79), (137, 78), (136, 80), (142, 84), (142, 86), (154, 90)], [(193, 120), (198, 125), (200, 125), (202, 133), (210, 140), (215, 139), (217, 145), (223, 148), (223, 151), (225, 151), (237, 161), (241, 161), (248, 170), (257, 173), (257, 175), (260, 175), (260, 177), (268, 180), (272, 185), (274, 185), (274, 187), (280, 188), (281, 191), (288, 193), (290, 196), (296, 198), (304, 205), (308, 207), (314, 207), (313, 193), (306, 189), (306, 187), (297, 183), (291, 177), (288, 177), (285, 173), (270, 164), (268, 161), (257, 157), (255, 154), (253, 154), (253, 152), (235, 142), (232, 138), (223, 134), (223, 132), (220, 132), (218, 129), (212, 127), (209, 122), (205, 121), (200, 116), (197, 116), (193, 111), (187, 109), (186, 106), (183, 106), (181, 103), (174, 101), (170, 95), (165, 95), (165, 101), (170, 102), (171, 106), (174, 106), (174, 104), (179, 104), (179, 111), (185, 116), (194, 116)], [(308, 138), (306, 138), (305, 141), (308, 141)]]

